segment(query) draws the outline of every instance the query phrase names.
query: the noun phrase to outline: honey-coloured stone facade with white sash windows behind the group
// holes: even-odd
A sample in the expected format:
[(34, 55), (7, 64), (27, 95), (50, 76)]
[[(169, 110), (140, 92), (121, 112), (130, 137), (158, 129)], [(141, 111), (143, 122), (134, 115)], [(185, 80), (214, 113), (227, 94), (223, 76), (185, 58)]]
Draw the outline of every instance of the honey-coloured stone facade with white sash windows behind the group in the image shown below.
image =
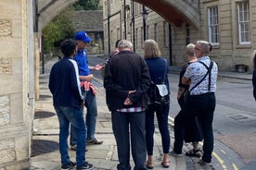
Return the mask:
[[(177, 27), (173, 22), (162, 18), (161, 11), (155, 12), (148, 8), (146, 2), (148, 13), (146, 39), (154, 39), (159, 43), (162, 56), (170, 62), (170, 65), (182, 66), (186, 63), (184, 54), (187, 43), (206, 40), (213, 45), (210, 56), (216, 61), (219, 69), (252, 71), (251, 55), (256, 49), (254, 39), (256, 13), (253, 12), (256, 1), (186, 0), (186, 2), (198, 8), (199, 28), (186, 21)], [(170, 0), (170, 3), (174, 1)], [(133, 4), (131, 0), (104, 0), (103, 9), (105, 54), (109, 53), (109, 46), (110, 49), (114, 48), (116, 40), (126, 38), (134, 42), (135, 53), (143, 55), (143, 5), (135, 2)], [(182, 12), (185, 14), (190, 12), (193, 15), (188, 8), (183, 9)]]

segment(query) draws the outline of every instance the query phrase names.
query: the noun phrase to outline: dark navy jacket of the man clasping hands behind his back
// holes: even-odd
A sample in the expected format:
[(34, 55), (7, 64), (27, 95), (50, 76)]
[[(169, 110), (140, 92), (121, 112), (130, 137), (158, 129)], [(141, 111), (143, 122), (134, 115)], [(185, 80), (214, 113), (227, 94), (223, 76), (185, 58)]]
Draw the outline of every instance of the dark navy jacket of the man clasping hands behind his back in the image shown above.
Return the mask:
[[(131, 51), (122, 51), (111, 57), (105, 67), (104, 87), (110, 111), (125, 107), (147, 107), (147, 90), (150, 85), (149, 70), (145, 60)], [(133, 105), (125, 106), (128, 91)]]

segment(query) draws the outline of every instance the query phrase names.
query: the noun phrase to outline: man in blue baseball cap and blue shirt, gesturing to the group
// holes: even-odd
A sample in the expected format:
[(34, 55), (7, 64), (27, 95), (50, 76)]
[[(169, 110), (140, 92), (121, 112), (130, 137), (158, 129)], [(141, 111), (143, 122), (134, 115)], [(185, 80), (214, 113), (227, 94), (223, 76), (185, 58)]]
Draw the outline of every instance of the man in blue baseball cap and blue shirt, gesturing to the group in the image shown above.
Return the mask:
[[(90, 70), (100, 70), (102, 65), (96, 65), (95, 67), (88, 66), (86, 46), (92, 39), (88, 36), (85, 31), (77, 31), (75, 34), (75, 40), (77, 42), (78, 52), (74, 56), (74, 60), (77, 62), (79, 67), (79, 79), (81, 82), (81, 91), (83, 94), (83, 102), (87, 109), (86, 114), (86, 126), (87, 126), (87, 138), (86, 144), (102, 144), (102, 140), (97, 140), (95, 137), (96, 131), (96, 89), (92, 84), (94, 75), (91, 74)], [(75, 130), (71, 127), (70, 130), (70, 145), (71, 150), (76, 150), (76, 135)]]

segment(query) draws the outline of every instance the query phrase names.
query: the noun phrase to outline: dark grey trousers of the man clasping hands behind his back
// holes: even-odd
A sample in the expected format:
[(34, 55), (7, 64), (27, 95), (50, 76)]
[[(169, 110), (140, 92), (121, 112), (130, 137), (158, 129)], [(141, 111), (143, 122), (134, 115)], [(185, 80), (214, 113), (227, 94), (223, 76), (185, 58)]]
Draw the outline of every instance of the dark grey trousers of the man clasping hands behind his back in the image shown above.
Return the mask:
[(130, 170), (130, 132), (134, 170), (147, 170), (145, 111), (139, 113), (111, 112), (112, 128), (117, 142), (118, 170)]

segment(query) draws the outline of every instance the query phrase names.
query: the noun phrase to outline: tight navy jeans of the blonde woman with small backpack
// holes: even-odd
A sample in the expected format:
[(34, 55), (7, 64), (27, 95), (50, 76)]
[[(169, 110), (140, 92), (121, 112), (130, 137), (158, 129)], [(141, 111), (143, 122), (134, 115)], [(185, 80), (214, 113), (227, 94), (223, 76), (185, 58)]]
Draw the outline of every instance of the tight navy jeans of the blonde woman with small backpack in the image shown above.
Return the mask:
[(146, 110), (146, 141), (147, 141), (147, 155), (153, 155), (154, 147), (154, 116), (155, 112), (160, 128), (161, 144), (163, 153), (168, 153), (170, 150), (170, 132), (168, 128), (168, 115), (170, 104), (164, 104), (162, 107), (155, 104), (149, 104)]

